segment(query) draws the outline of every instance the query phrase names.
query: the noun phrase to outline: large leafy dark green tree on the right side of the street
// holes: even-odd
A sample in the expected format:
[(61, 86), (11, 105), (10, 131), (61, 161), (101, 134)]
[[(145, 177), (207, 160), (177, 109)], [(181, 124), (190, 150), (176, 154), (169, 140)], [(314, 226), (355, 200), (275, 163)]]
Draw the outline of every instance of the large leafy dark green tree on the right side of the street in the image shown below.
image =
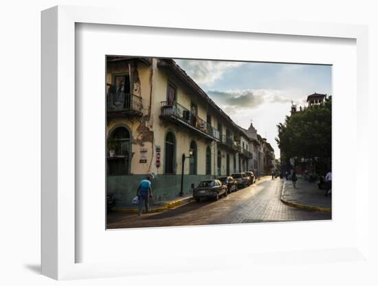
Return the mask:
[(310, 159), (324, 171), (331, 167), (332, 156), (332, 98), (292, 113), (285, 123), (277, 125), (276, 142), (285, 162), (291, 157)]

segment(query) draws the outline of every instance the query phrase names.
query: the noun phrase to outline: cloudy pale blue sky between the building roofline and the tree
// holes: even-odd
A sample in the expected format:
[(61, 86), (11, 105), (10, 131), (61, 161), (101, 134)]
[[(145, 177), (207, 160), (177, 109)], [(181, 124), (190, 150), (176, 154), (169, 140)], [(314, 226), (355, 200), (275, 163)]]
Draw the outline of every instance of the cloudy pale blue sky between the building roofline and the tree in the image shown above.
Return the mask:
[(307, 105), (313, 93), (331, 95), (330, 65), (175, 59), (177, 64), (239, 126), (252, 124), (274, 148), (276, 125), (290, 114), (291, 101)]

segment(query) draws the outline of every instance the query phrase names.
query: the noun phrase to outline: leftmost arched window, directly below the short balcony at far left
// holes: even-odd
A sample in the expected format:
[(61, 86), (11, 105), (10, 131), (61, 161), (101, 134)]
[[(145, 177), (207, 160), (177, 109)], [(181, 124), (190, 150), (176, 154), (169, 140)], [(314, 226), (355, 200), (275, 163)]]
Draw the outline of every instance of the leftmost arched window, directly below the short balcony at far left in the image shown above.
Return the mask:
[(130, 173), (131, 134), (126, 127), (120, 126), (111, 131), (107, 148), (108, 175), (127, 175)]

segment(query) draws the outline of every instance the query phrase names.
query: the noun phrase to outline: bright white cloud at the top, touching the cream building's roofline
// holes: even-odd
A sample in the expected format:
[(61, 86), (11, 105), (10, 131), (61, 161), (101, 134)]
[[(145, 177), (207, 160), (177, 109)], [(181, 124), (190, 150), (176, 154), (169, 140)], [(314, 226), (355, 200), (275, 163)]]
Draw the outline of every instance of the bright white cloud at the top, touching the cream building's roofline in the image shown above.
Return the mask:
[(229, 69), (244, 63), (231, 61), (175, 60), (177, 64), (199, 85), (214, 83)]

